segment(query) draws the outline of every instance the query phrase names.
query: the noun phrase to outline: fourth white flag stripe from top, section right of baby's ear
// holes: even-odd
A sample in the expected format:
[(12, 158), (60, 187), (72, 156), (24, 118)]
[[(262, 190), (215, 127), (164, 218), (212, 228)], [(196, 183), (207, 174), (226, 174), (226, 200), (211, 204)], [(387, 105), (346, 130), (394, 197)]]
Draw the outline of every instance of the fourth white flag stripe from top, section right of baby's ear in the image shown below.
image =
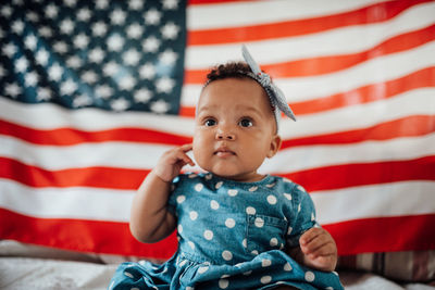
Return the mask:
[(376, 102), (297, 116), (296, 123), (283, 118), (279, 135), (283, 139), (293, 139), (363, 129), (412, 115), (435, 115), (434, 96), (435, 88), (420, 88)]

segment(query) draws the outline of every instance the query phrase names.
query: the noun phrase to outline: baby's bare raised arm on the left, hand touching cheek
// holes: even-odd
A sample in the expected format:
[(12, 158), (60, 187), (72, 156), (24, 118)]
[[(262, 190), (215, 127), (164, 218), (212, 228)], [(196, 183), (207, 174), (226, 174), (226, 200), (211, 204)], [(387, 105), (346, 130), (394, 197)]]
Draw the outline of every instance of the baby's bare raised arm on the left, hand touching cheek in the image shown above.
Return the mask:
[(166, 151), (157, 166), (148, 174), (133, 199), (129, 228), (141, 242), (157, 242), (169, 236), (176, 226), (166, 203), (171, 192), (171, 181), (186, 164), (194, 165), (186, 152), (191, 144)]

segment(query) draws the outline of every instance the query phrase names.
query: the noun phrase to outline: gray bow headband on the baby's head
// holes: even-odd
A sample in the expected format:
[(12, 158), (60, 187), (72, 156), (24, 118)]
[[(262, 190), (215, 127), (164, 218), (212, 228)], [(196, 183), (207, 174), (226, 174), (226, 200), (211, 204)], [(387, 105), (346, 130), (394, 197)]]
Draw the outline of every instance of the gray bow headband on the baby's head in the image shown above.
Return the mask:
[(269, 96), (269, 99), (271, 100), (271, 104), (275, 108), (274, 113), (276, 126), (278, 126), (278, 121), (281, 118), (279, 112), (283, 112), (286, 116), (296, 121), (295, 114), (293, 113), (290, 106), (287, 104), (284, 92), (278, 87), (276, 87), (275, 84), (272, 83), (271, 77), (268, 74), (261, 72), (260, 66), (252, 59), (251, 54), (245, 46), (241, 47), (241, 54), (244, 55), (246, 63), (252, 71), (252, 74), (248, 74), (247, 76), (257, 80), (257, 83), (259, 83), (264, 88), (265, 92)]

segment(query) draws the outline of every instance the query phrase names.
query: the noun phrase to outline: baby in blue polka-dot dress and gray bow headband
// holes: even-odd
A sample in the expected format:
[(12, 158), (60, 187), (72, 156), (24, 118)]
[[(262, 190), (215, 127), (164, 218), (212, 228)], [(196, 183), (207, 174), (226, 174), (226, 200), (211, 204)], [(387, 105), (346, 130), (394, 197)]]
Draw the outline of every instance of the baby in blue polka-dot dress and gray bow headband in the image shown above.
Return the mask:
[[(244, 47), (246, 63), (208, 75), (191, 144), (169, 150), (134, 198), (130, 230), (156, 242), (177, 229), (162, 265), (122, 264), (109, 289), (343, 289), (337, 249), (310, 196), (258, 168), (281, 146), (284, 96)], [(194, 161), (204, 171), (179, 174)]]

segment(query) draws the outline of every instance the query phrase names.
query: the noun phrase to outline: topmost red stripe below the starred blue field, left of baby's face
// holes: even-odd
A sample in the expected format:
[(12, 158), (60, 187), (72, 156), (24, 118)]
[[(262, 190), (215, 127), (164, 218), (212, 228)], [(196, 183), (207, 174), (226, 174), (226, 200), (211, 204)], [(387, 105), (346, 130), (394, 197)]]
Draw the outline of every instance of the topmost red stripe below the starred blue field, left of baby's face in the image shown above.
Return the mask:
[(13, 136), (35, 144), (73, 146), (87, 142), (129, 141), (182, 146), (191, 142), (190, 137), (141, 128), (116, 128), (85, 131), (73, 128), (40, 130), (0, 119), (0, 135)]

